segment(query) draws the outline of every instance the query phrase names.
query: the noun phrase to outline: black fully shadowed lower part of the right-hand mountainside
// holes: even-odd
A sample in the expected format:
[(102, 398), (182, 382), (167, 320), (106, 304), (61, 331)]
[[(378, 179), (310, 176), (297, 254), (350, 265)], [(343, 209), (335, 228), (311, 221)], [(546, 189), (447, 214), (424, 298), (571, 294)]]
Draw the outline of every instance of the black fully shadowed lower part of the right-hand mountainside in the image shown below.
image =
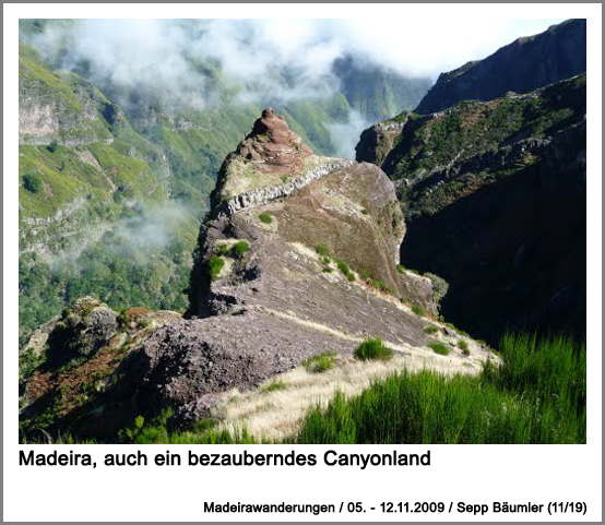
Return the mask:
[(585, 335), (585, 126), (542, 156), (411, 222), (402, 246), (406, 265), (450, 283), (443, 315), (494, 345), (507, 331)]

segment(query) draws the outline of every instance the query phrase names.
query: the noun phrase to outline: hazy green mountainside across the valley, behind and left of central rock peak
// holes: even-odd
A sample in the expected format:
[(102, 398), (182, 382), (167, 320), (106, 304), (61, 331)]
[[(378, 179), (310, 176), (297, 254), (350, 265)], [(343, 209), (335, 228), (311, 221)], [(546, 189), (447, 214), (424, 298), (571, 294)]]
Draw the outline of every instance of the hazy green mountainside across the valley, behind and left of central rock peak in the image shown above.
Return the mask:
[[(56, 23), (61, 22), (43, 21), (40, 27)], [(21, 36), (34, 26), (22, 21)], [(207, 210), (215, 174), (262, 109), (251, 103), (233, 104), (235, 93), (246, 86), (224, 83), (215, 63), (198, 65), (206, 87), (220, 95), (218, 111), (150, 105), (139, 93), (138, 103), (120, 106), (120, 100), (131, 100), (130, 93), (111, 86), (116, 99), (109, 99), (102, 92), (105, 86), (69, 71), (54, 71), (31, 46), (20, 43), (20, 105), (48, 104), (54, 120), (60, 122), (41, 145), (38, 136), (27, 132), (20, 136), (24, 144), (20, 146), (20, 345), (36, 326), (85, 295), (96, 294), (117, 310), (186, 309), (183, 290), (198, 223)], [(276, 73), (275, 82), (289, 79)], [(355, 104), (373, 106), (357, 98)], [(391, 106), (381, 118), (392, 112)], [(344, 121), (351, 108), (351, 102), (336, 94), (275, 110), (316, 153), (331, 155), (335, 144), (327, 124)], [(24, 176), (35, 179), (29, 183)], [(166, 202), (186, 215), (169, 231), (174, 242), (155, 247), (142, 238), (131, 250), (131, 241), (119, 240), (124, 223), (141, 215), (142, 207)], [(52, 220), (56, 214), (61, 216), (58, 212), (63, 219)], [(49, 222), (35, 226), (33, 222), (40, 219)], [(259, 220), (271, 224), (274, 217), (260, 214)], [(111, 230), (100, 235), (107, 227)], [(40, 246), (41, 251), (33, 248)]]

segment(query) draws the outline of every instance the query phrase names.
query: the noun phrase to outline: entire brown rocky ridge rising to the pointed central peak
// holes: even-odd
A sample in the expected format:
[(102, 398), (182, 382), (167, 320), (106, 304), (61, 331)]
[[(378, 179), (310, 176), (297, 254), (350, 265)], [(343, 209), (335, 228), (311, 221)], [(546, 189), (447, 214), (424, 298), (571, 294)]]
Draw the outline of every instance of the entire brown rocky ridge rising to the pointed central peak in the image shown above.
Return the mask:
[[(321, 175), (306, 178), (309, 170)], [(296, 191), (274, 191), (293, 179), (304, 181)], [(253, 204), (221, 207), (252, 190), (262, 192)], [(171, 425), (191, 426), (233, 389), (254, 389), (327, 350), (351, 356), (368, 336), (414, 369), (473, 373), (488, 358), (487, 348), (435, 321), (429, 279), (396, 270), (405, 227), (393, 183), (377, 166), (313, 155), (268, 108), (225, 160), (213, 203), (189, 318), (145, 309), (117, 315), (86, 299), (35, 334), (24, 351), (25, 434), (43, 428), (112, 440), (135, 416), (167, 406)], [(79, 337), (81, 347), (56, 344)], [(470, 355), (427, 346), (459, 338)]]

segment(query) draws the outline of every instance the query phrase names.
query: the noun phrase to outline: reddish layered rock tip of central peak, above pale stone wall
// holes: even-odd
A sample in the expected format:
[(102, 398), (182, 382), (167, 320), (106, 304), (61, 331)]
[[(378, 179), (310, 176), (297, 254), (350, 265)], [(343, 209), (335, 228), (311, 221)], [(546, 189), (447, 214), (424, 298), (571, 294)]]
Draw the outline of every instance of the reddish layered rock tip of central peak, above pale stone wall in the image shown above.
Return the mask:
[(302, 160), (312, 155), (311, 148), (289, 129), (285, 117), (275, 115), (273, 108), (262, 111), (236, 153), (257, 163), (258, 169), (264, 172), (283, 172), (285, 169), (299, 172)]

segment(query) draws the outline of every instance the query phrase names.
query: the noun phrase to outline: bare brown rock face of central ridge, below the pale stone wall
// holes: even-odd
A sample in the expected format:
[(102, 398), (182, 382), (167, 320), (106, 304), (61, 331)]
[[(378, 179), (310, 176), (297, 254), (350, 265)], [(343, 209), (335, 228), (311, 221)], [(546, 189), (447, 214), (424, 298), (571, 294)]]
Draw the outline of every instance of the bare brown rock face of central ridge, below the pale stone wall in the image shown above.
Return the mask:
[[(275, 119), (265, 111), (251, 135)], [(245, 152), (248, 144), (235, 155)], [(324, 165), (332, 169), (293, 191), (265, 184), (254, 190), (263, 198), (239, 196), (241, 205), (211, 214), (193, 271), (193, 319), (158, 330), (137, 361), (153, 393), (141, 398), (177, 407), (179, 425), (204, 417), (226, 391), (325, 350), (349, 355), (369, 336), (401, 351), (427, 343), (426, 321), (402, 299), (435, 311), (432, 289), (396, 270), (405, 225), (393, 183), (370, 164)], [(237, 243), (248, 250), (234, 254)]]

